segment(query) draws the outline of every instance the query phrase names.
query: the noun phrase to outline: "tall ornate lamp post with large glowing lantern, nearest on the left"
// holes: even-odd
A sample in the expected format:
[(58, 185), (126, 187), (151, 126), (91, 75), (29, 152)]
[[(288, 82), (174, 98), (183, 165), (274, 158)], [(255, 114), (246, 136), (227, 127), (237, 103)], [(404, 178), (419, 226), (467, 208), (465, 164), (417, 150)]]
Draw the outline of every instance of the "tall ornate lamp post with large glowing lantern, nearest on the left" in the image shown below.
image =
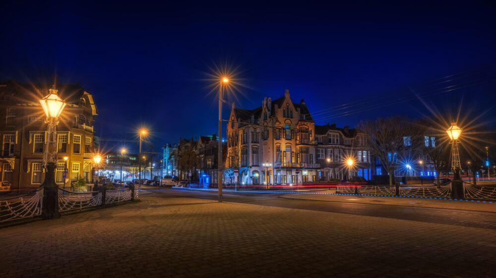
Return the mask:
[(43, 218), (54, 219), (60, 218), (59, 213), (59, 186), (55, 183), (55, 167), (57, 164), (57, 130), (56, 126), (59, 123), (59, 116), (62, 113), (66, 103), (59, 95), (54, 87), (50, 89), (50, 93), (40, 99), (41, 107), (47, 116), (45, 122), (48, 124), (46, 140), (46, 148), (43, 153), (43, 163), (46, 167), (45, 181), (40, 187), (43, 187)]

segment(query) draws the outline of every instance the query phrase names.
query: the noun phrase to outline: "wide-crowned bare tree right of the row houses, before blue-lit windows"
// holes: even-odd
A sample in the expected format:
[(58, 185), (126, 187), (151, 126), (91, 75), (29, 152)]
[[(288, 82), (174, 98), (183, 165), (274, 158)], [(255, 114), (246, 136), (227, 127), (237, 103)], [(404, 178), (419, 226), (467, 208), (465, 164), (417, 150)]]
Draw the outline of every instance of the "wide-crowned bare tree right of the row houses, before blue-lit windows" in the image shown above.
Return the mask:
[[(418, 149), (419, 126), (397, 116), (362, 121), (358, 129), (366, 134), (371, 155), (380, 160), (389, 175), (389, 186), (392, 186), (395, 170), (409, 161)], [(396, 193), (399, 194), (398, 186)]]

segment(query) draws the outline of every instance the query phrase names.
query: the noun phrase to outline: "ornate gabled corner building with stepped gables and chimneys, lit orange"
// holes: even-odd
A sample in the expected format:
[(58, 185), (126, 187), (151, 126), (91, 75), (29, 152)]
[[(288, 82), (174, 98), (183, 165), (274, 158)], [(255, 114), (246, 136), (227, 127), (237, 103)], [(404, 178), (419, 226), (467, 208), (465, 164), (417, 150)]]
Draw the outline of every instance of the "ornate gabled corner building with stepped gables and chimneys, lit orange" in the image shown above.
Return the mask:
[(293, 184), (317, 181), (314, 122), (305, 101), (295, 103), (286, 90), (262, 105), (232, 105), (227, 126), (224, 183)]

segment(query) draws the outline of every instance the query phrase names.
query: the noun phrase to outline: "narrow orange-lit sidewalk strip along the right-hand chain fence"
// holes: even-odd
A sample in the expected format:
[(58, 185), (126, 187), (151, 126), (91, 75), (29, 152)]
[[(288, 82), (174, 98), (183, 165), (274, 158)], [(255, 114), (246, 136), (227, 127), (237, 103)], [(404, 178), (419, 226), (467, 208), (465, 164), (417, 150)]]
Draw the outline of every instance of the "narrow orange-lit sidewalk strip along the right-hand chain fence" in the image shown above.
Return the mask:
[(345, 203), (361, 203), (361, 204), (379, 204), (393, 206), (409, 206), (409, 207), (424, 207), (424, 208), (440, 208), (440, 209), (457, 209), (457, 210), (472, 210), (484, 212), (496, 212), (496, 202), (484, 203), (482, 201), (453, 201), (453, 200), (435, 200), (426, 198), (407, 198), (407, 197), (375, 197), (375, 196), (360, 196), (360, 195), (325, 195), (315, 193), (334, 193), (334, 190), (319, 190), (311, 191), (308, 194), (284, 194), (279, 198), (312, 200), (323, 202), (345, 202)]

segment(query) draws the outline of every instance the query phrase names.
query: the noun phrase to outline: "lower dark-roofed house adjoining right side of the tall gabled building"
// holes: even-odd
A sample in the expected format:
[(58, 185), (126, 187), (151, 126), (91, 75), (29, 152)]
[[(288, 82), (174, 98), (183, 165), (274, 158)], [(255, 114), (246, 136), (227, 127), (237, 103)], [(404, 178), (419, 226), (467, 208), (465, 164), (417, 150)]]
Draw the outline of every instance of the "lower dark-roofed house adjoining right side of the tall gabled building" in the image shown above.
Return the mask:
[[(365, 134), (335, 124), (315, 126), (316, 161), (321, 165), (317, 181), (350, 180), (352, 177), (372, 179), (371, 152)], [(353, 160), (353, 166), (347, 160)]]

